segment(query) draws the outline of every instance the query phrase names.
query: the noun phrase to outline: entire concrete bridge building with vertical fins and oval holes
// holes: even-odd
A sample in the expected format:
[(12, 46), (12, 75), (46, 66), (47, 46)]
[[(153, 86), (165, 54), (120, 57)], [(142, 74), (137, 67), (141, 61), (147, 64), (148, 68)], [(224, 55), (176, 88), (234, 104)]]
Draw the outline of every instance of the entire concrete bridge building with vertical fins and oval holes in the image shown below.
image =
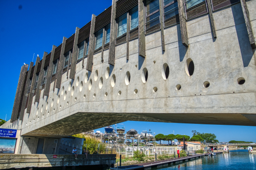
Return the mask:
[[(1, 128), (61, 138), (127, 120), (256, 126), (256, 0), (184, 5), (151, 27), (143, 0), (113, 0), (35, 66), (22, 66)], [(128, 31), (118, 36), (124, 14)], [(105, 42), (111, 28), (110, 40), (98, 47), (101, 28)]]

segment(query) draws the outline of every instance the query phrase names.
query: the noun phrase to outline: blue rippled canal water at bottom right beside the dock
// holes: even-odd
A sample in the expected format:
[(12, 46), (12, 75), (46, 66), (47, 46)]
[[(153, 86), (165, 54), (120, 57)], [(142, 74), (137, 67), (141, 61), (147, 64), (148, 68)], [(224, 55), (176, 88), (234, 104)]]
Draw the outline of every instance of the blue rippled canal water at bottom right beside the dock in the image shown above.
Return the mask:
[[(159, 170), (159, 169), (158, 169)], [(230, 151), (216, 156), (203, 156), (160, 170), (256, 170), (256, 154), (247, 150)]]

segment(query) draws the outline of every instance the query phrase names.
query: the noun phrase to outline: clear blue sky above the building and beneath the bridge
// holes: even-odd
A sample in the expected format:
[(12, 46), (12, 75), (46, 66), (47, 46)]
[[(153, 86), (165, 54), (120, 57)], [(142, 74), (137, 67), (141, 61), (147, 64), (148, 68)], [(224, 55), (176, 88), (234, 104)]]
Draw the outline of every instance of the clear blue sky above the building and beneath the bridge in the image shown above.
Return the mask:
[[(6, 114), (6, 120), (11, 118), (23, 63), (29, 64), (34, 53), (42, 58), (44, 51), (49, 53), (53, 45), (59, 46), (63, 36), (70, 37), (76, 27), (84, 26), (92, 14), (100, 14), (111, 3), (112, 0), (0, 0), (0, 119), (5, 119)], [(153, 133), (164, 135), (175, 131), (175, 134), (192, 136), (191, 131), (197, 130), (214, 133), (219, 141), (256, 142), (256, 127), (250, 126), (128, 121), (125, 127), (139, 132), (151, 129)]]

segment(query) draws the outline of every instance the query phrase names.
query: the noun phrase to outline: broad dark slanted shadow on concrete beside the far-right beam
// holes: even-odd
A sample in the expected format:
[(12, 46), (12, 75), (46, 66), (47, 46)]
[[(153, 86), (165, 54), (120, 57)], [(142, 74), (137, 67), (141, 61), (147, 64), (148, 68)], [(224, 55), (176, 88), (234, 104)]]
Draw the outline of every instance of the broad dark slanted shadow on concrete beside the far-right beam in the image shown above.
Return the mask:
[(241, 5), (234, 5), (231, 9), (235, 21), (236, 34), (243, 60), (243, 66), (245, 68), (248, 67), (251, 62), (255, 49), (253, 50), (250, 44)]

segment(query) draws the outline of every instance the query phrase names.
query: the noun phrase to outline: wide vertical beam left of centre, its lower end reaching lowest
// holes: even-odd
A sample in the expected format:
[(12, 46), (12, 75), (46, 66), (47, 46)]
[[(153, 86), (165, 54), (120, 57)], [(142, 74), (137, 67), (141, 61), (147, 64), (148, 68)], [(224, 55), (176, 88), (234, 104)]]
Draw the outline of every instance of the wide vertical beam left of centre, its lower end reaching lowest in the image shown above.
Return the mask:
[(116, 56), (116, 38), (117, 38), (117, 21), (116, 17), (116, 0), (112, 0), (112, 10), (111, 10), (111, 24), (110, 24), (110, 40), (109, 40), (109, 57), (108, 64), (115, 65)]

